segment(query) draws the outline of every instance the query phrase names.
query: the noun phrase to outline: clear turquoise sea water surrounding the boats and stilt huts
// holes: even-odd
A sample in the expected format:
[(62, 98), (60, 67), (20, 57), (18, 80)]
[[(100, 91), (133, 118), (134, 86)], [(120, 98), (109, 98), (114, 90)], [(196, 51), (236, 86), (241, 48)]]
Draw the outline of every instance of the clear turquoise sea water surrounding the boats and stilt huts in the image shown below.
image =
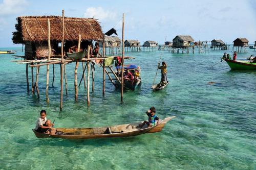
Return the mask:
[[(22, 55), (21, 48), (16, 48)], [(153, 92), (151, 85), (162, 52), (127, 53), (126, 63), (141, 67), (142, 85), (136, 91), (120, 91), (106, 80), (102, 97), (102, 69), (96, 66), (95, 91), (87, 108), (86, 91), (79, 88), (74, 101), (74, 63), (67, 65), (68, 95), (59, 112), (59, 66), (55, 65), (50, 104), (46, 104), (46, 66), (40, 68), (40, 99), (27, 93), (26, 66), (0, 62), (0, 169), (256, 169), (256, 72), (231, 71), (219, 63), (224, 51), (206, 54), (163, 52), (170, 84)], [(231, 52), (228, 52), (231, 54)], [(251, 54), (238, 54), (245, 59)], [(78, 80), (81, 78), (81, 64)], [(30, 73), (29, 69), (29, 73)], [(35, 69), (34, 69), (35, 75)], [(157, 82), (160, 81), (158, 72)], [(31, 80), (31, 74), (30, 78)], [(216, 82), (208, 85), (210, 81)], [(31, 81), (30, 81), (31, 83)], [(31, 85), (31, 84), (30, 84)], [(81, 84), (82, 85), (82, 84)], [(64, 88), (65, 89), (65, 88)], [(112, 139), (39, 139), (32, 132), (39, 111), (46, 109), (55, 127), (99, 127), (146, 119), (155, 106), (161, 118), (176, 115), (160, 133)]]

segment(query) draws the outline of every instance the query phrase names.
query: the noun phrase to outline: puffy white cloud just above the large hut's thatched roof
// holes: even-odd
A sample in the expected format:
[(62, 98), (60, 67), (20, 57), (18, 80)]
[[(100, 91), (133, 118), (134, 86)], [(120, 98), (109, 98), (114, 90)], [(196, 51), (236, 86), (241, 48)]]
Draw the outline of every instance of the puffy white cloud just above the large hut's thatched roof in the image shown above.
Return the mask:
[(103, 21), (106, 19), (115, 19), (116, 13), (109, 10), (104, 10), (102, 7), (94, 8), (90, 7), (86, 9), (86, 12), (83, 14), (84, 17), (99, 19)]

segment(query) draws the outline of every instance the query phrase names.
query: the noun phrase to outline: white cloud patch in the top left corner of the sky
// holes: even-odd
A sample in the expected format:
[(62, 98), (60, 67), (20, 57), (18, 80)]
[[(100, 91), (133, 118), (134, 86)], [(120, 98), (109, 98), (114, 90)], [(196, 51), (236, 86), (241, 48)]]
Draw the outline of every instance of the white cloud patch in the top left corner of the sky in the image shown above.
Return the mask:
[(0, 4), (0, 16), (20, 13), (27, 4), (27, 0), (4, 0)]

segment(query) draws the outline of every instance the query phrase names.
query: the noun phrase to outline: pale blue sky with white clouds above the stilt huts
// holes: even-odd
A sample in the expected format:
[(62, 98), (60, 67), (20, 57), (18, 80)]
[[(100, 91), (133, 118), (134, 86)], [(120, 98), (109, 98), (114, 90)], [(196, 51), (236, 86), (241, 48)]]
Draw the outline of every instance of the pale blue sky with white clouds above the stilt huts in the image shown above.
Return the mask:
[(104, 33), (115, 28), (120, 38), (124, 13), (124, 39), (141, 43), (163, 44), (165, 37), (172, 41), (176, 35), (191, 35), (196, 41), (256, 41), (256, 0), (0, 0), (0, 9), (0, 47), (21, 46), (11, 40), (18, 16), (61, 16), (62, 10), (67, 17), (94, 17)]

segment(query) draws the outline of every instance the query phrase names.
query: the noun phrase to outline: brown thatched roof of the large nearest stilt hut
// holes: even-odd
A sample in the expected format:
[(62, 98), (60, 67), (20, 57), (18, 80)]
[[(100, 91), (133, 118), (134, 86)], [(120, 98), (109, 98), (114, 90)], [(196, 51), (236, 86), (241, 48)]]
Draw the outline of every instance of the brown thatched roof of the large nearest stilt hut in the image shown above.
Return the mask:
[[(51, 40), (60, 42), (62, 39), (61, 16), (20, 16), (17, 17), (16, 32), (13, 32), (13, 43), (24, 41), (47, 41), (48, 18), (51, 26)], [(91, 18), (65, 17), (65, 40), (98, 40), (103, 38), (99, 22)]]

